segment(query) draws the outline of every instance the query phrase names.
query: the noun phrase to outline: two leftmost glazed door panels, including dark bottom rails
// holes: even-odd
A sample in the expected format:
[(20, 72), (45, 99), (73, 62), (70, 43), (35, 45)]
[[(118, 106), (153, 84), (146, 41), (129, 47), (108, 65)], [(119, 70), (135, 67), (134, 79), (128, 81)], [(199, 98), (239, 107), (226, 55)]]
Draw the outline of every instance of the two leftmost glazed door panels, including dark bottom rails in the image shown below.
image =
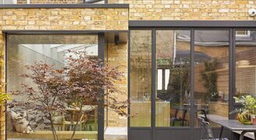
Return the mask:
[(129, 139), (190, 139), (190, 30), (131, 30), (129, 56)]

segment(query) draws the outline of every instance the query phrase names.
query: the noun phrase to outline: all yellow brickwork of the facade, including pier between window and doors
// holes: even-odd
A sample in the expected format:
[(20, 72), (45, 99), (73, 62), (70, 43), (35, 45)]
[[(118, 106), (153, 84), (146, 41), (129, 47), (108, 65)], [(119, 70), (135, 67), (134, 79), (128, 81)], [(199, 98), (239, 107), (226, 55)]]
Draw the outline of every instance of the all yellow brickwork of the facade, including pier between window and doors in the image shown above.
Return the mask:
[[(27, 0), (18, 0), (19, 4)], [(32, 4), (82, 3), (83, 0), (30, 0)], [(5, 48), (2, 30), (128, 30), (129, 20), (255, 20), (248, 9), (254, 0), (108, 0), (129, 4), (129, 9), (0, 9), (0, 48)], [(126, 77), (116, 83), (127, 94), (128, 44), (108, 44), (108, 63), (120, 65)], [(126, 99), (127, 95), (119, 96)], [(126, 126), (126, 118), (109, 112), (109, 126)], [(5, 117), (1, 118), (4, 139)]]

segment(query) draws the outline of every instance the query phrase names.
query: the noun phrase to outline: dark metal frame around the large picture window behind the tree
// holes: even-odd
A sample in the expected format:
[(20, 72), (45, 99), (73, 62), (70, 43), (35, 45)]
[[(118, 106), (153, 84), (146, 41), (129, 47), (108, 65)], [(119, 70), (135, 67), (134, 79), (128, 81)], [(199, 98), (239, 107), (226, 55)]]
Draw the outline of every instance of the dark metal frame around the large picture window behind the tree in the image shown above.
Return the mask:
[[(7, 47), (8, 47), (8, 41), (7, 41), (7, 37), (8, 34), (31, 34), (31, 35), (35, 35), (35, 34), (51, 34), (50, 33), (23, 33), (22, 31), (20, 31), (19, 33), (9, 33), (7, 31), (3, 32), (4, 36), (5, 36), (5, 81), (7, 80), (7, 66), (6, 64), (8, 63), (7, 58), (8, 58), (8, 51), (7, 51)], [(69, 34), (74, 34), (73, 32), (70, 32)], [(102, 63), (104, 65), (104, 58), (105, 58), (105, 33), (89, 33), (89, 34), (94, 34), (94, 35), (98, 35), (98, 58), (100, 58), (102, 60)], [(5, 91), (7, 90), (7, 87), (5, 86)], [(100, 105), (98, 106), (98, 139), (99, 140), (103, 140), (104, 139), (104, 90), (101, 91), (101, 98), (103, 100), (101, 100)], [(5, 110), (7, 110), (7, 107), (5, 106)], [(5, 123), (7, 121), (7, 114), (5, 114)], [(5, 140), (7, 140), (7, 125), (5, 125)]]

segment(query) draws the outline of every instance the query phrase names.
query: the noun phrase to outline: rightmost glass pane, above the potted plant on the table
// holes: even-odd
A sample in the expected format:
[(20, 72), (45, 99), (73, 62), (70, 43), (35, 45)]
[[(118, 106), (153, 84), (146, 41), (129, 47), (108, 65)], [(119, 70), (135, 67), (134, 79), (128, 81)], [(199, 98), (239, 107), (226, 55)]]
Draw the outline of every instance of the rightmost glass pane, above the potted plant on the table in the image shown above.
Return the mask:
[(237, 32), (250, 35), (236, 36), (236, 96), (256, 96), (256, 31)]

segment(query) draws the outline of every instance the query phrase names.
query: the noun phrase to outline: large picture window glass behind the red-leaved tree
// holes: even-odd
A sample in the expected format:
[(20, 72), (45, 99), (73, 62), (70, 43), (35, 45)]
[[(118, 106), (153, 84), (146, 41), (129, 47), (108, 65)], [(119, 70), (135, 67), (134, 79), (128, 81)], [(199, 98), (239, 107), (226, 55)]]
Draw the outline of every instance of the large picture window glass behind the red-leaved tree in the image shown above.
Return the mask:
[[(62, 68), (67, 61), (64, 61), (70, 55), (70, 51), (86, 50), (91, 57), (98, 57), (98, 35), (12, 35), (7, 36), (7, 90), (8, 91), (23, 91), (23, 85), (26, 84), (35, 89), (39, 93), (39, 87), (31, 79), (25, 79), (20, 75), (30, 75), (32, 72), (26, 68), (26, 65), (33, 65), (34, 62), (45, 62), (52, 65), (54, 68)], [(27, 91), (27, 90), (26, 90)], [(12, 96), (13, 100), (25, 103), (28, 101), (27, 94)], [(38, 101), (40, 102), (40, 101)], [(91, 101), (83, 104), (84, 114), (78, 114), (77, 109), (70, 107), (64, 101), (61, 102), (65, 106), (65, 113), (55, 113), (54, 128), (56, 131), (62, 131), (61, 134), (69, 134), (73, 132), (73, 124), (78, 122), (77, 131), (95, 131), (94, 137), (97, 138), (98, 115), (97, 106)], [(22, 117), (17, 121), (17, 115), (26, 112), (27, 116)], [(7, 117), (7, 133), (13, 138), (13, 135), (20, 135), (24, 131), (32, 128), (34, 131), (41, 131), (40, 134), (51, 134), (49, 128), (49, 118), (43, 117), (43, 111), (40, 110), (26, 110), (23, 108), (13, 107), (8, 110)], [(20, 115), (19, 115), (20, 117)], [(41, 124), (37, 122), (41, 119)], [(17, 123), (19, 122), (19, 123)], [(27, 122), (29, 126), (25, 125)], [(25, 124), (24, 124), (25, 123)], [(24, 124), (20, 126), (20, 124)], [(36, 133), (35, 132), (35, 133)], [(77, 133), (76, 135), (79, 135)], [(63, 136), (63, 135), (61, 135)], [(85, 135), (85, 138), (87, 136)], [(19, 139), (23, 138), (44, 138), (42, 135), (20, 135)], [(46, 139), (46, 138), (44, 138)], [(51, 139), (51, 138), (50, 138)], [(69, 139), (69, 138), (65, 138)]]

